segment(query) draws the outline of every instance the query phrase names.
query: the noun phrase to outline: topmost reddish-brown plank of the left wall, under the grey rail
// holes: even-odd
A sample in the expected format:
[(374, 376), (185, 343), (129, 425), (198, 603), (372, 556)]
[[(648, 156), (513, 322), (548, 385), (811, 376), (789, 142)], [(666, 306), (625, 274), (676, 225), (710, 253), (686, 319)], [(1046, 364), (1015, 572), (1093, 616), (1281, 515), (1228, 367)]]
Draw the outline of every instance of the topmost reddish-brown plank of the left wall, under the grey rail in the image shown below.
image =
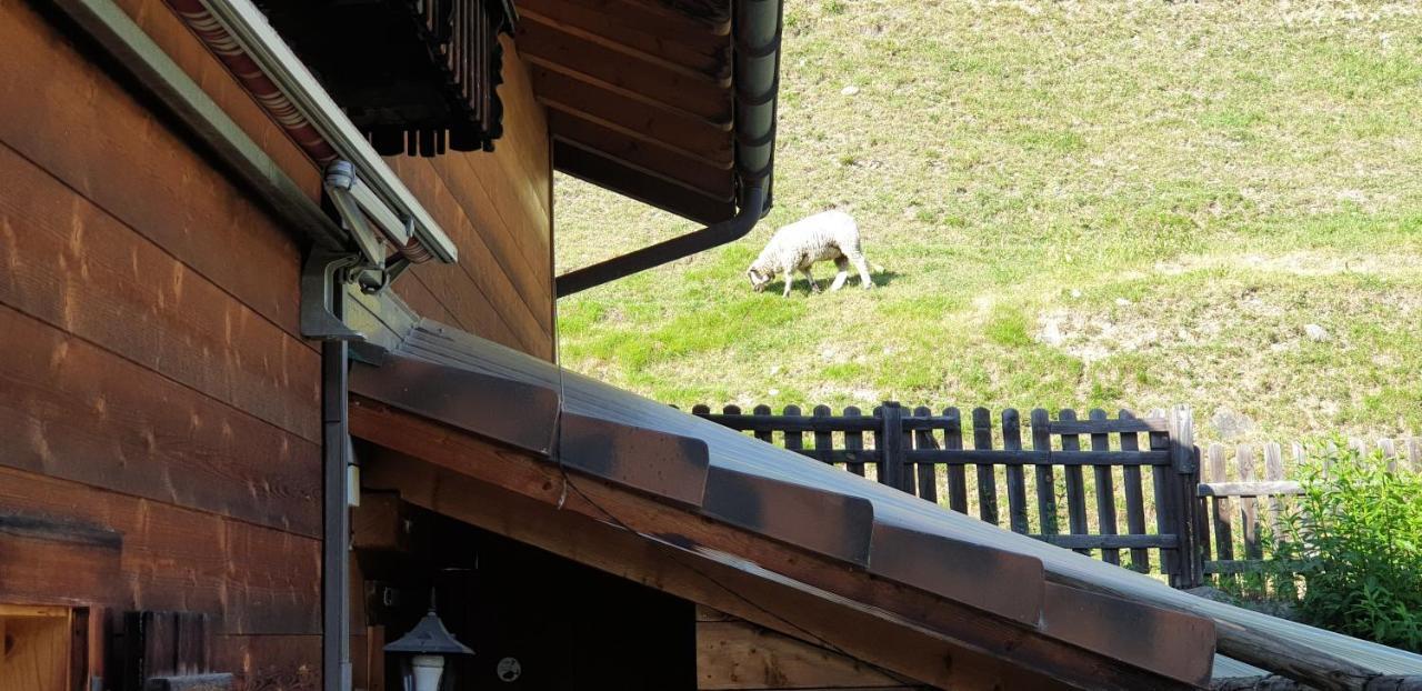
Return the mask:
[[(301, 253), (292, 229), (154, 119), (28, 4), (0, 7), (0, 141), (300, 336)], [(240, 262), (232, 260), (235, 250)]]

